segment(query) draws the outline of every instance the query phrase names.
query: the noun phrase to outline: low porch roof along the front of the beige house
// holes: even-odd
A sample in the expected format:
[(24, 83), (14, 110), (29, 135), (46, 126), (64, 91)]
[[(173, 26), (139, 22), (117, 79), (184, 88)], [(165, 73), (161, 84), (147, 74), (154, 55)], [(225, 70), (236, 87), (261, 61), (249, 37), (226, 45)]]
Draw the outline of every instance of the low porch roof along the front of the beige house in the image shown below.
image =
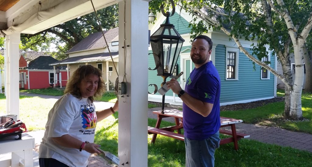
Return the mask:
[[(115, 58), (118, 56), (118, 52), (111, 52), (112, 57)], [(59, 64), (73, 64), (73, 63), (85, 63), (85, 62), (94, 62), (94, 61), (105, 61), (107, 59), (110, 59), (110, 53), (96, 53), (91, 55), (85, 55), (85, 56), (76, 56), (76, 57), (70, 57), (61, 61), (57, 61), (54, 63), (51, 63), (52, 65), (59, 65)]]

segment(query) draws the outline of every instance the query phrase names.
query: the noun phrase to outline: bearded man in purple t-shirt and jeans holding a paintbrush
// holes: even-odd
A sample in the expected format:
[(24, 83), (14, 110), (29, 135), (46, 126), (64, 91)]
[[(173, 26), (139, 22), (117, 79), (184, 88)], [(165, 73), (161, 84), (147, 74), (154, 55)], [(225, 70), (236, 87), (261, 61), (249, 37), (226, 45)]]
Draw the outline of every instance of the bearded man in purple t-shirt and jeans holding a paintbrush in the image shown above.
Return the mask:
[(214, 153), (219, 148), (221, 81), (216, 67), (209, 61), (212, 41), (197, 36), (191, 49), (195, 68), (191, 72), (185, 91), (177, 80), (166, 84), (183, 101), (183, 128), (186, 166), (214, 166)]

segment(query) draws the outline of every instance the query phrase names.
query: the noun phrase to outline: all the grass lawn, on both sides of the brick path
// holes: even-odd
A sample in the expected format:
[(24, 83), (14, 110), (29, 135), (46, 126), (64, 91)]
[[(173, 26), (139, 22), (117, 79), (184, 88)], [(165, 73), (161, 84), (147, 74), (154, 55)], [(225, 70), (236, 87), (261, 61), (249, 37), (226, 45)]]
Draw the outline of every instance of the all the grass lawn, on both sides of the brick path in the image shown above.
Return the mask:
[[(309, 95), (310, 96), (310, 95)], [(311, 101), (311, 97), (304, 95), (303, 99)], [(307, 102), (303, 100), (303, 108), (307, 107)], [(44, 129), (47, 114), (54, 105), (53, 101), (41, 99), (39, 97), (20, 97), (20, 119), (26, 123), (29, 130)], [(5, 113), (5, 97), (0, 94), (0, 114)], [(266, 119), (270, 117), (270, 110), (275, 111), (280, 108), (278, 105), (269, 104), (264, 108), (231, 111), (236, 113), (230, 117), (242, 117), (246, 120), (254, 121), (255, 117)], [(271, 109), (270, 109), (271, 108)], [(260, 111), (259, 111), (260, 110)], [(266, 112), (264, 112), (267, 110)], [(280, 110), (281, 112), (282, 110)], [(226, 111), (224, 113), (229, 113)], [(253, 114), (250, 114), (253, 113)], [(306, 112), (306, 111), (304, 111)], [(311, 112), (311, 111), (309, 111)], [(263, 113), (263, 114), (261, 114)], [(266, 114), (265, 114), (266, 113)], [(273, 114), (274, 113), (274, 114)], [(272, 112), (271, 115), (278, 114), (278, 111)], [(227, 116), (229, 116), (228, 114)], [(254, 115), (254, 116), (250, 116)], [(263, 116), (267, 115), (267, 116)], [(305, 115), (305, 113), (304, 113)], [(222, 111), (222, 116), (223, 111)], [(247, 117), (248, 116), (248, 117)], [(253, 118), (254, 117), (254, 118)], [(248, 119), (247, 119), (248, 118)], [(261, 119), (259, 119), (261, 121)], [(154, 126), (156, 120), (149, 119), (148, 125)], [(173, 123), (162, 122), (161, 126), (170, 126)], [(306, 124), (311, 129), (311, 124)], [(308, 129), (308, 128), (307, 128)], [(225, 137), (224, 135), (221, 136)], [(151, 167), (180, 167), (185, 166), (185, 146), (183, 141), (158, 135), (155, 144), (150, 144), (152, 135), (148, 135), (148, 166)], [(95, 143), (101, 145), (103, 150), (108, 150), (115, 155), (118, 151), (118, 112), (99, 122), (96, 128)], [(290, 147), (281, 147), (277, 145), (264, 144), (254, 140), (242, 139), (239, 141), (240, 149), (235, 151), (233, 144), (221, 145), (215, 153), (216, 166), (312, 166), (312, 153), (292, 149)]]

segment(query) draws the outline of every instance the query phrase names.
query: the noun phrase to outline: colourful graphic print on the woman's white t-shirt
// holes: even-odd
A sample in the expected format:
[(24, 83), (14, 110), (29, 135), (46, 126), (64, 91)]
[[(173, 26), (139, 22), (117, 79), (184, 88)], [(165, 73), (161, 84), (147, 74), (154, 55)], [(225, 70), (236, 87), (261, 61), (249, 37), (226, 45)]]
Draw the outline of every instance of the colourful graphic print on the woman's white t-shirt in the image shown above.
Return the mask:
[(81, 107), (82, 128), (91, 129), (96, 127), (96, 114), (93, 107)]

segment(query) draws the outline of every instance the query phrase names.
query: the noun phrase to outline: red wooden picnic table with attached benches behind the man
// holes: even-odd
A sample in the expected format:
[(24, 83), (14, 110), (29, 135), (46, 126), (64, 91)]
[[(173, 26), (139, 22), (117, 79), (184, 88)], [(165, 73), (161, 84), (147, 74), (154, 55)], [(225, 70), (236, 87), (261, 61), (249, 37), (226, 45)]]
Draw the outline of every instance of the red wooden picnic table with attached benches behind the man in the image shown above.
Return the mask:
[[(181, 133), (181, 129), (183, 129), (183, 112), (179, 110), (165, 110), (164, 114), (161, 114), (161, 111), (153, 111), (153, 114), (157, 114), (157, 122), (155, 127), (148, 126), (148, 134), (153, 134), (152, 143), (155, 143), (157, 134), (164, 135), (167, 137), (172, 137), (174, 139), (184, 141), (184, 135)], [(168, 126), (160, 128), (160, 123), (163, 118), (166, 117), (173, 117), (175, 120), (174, 126)], [(227, 144), (230, 142), (234, 143), (234, 149), (238, 150), (238, 143), (237, 141), (241, 138), (250, 137), (250, 135), (246, 135), (243, 133), (237, 133), (235, 124), (243, 122), (243, 120), (233, 119), (233, 118), (226, 118), (220, 117), (221, 127), (231, 126), (230, 130), (219, 129), (219, 132), (226, 135), (231, 135), (229, 138), (221, 139), (220, 145)], [(174, 131), (177, 130), (177, 133)]]

